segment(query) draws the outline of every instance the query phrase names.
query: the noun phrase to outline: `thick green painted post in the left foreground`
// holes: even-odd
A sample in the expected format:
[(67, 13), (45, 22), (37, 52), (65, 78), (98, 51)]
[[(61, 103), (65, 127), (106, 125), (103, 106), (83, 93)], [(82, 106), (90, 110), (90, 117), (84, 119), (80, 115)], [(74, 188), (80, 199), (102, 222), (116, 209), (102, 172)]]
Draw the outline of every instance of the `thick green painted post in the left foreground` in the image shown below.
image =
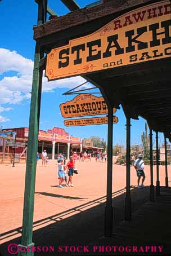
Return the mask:
[[(33, 246), (33, 211), (34, 211), (34, 191), (35, 191), (35, 173), (37, 163), (37, 148), (38, 148), (38, 98), (40, 97), (39, 90), (39, 60), (40, 47), (35, 46), (34, 69), (33, 69), (33, 84), (31, 91), (31, 106), (29, 120), (29, 139), (28, 153), (26, 161), (25, 173), (25, 193), (24, 193), (24, 210), (22, 219), (22, 240), (19, 248), (25, 248), (26, 251), (19, 251), (18, 255), (33, 256), (33, 251), (27, 251)], [(42, 74), (42, 73), (41, 73)]]

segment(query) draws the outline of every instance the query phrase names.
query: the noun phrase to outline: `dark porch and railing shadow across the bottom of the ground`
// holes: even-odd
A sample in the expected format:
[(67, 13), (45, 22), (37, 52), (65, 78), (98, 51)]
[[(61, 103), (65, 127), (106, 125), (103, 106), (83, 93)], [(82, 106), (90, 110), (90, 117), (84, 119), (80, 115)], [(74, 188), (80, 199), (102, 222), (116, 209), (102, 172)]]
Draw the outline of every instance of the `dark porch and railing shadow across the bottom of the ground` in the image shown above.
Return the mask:
[[(120, 194), (122, 193), (122, 194)], [(118, 195), (118, 196), (117, 196)], [(155, 202), (149, 201), (149, 187), (132, 188), (132, 221), (124, 220), (125, 189), (113, 193), (114, 228), (113, 237), (104, 238), (104, 208), (105, 196), (66, 210), (60, 214), (34, 222), (34, 227), (46, 223), (46, 227), (33, 232), (35, 245), (55, 246), (55, 252), (46, 254), (35, 252), (34, 255), (171, 255), (170, 249), (170, 216), (171, 189), (161, 188), (161, 196)], [(49, 224), (50, 220), (55, 223)], [(10, 237), (12, 232), (21, 232), (21, 227), (3, 233), (2, 237)], [(13, 239), (1, 245), (1, 254), (10, 255), (7, 246), (11, 243), (20, 244), (21, 238)], [(88, 246), (89, 252), (65, 252), (62, 246)], [(137, 246), (139, 251), (109, 251), (112, 246)], [(59, 252), (59, 246), (62, 252)], [(93, 251), (93, 246), (97, 250)], [(101, 246), (101, 251), (99, 251)], [(104, 246), (104, 247), (102, 247)], [(108, 246), (108, 247), (106, 247)], [(142, 248), (140, 247), (142, 246)], [(144, 252), (145, 246), (154, 246)], [(155, 248), (156, 246), (156, 248)], [(158, 246), (163, 246), (159, 253)], [(74, 247), (73, 247), (74, 248)], [(103, 249), (104, 248), (104, 249)], [(107, 251), (105, 251), (107, 248)], [(120, 247), (122, 248), (122, 247)], [(124, 247), (125, 248), (125, 247)], [(141, 251), (140, 251), (141, 248)], [(69, 249), (69, 248), (68, 248)], [(73, 249), (74, 250), (74, 249)], [(103, 251), (104, 250), (104, 251)], [(123, 248), (122, 248), (123, 250)], [(125, 250), (125, 249), (124, 249)], [(136, 250), (134, 248), (134, 250)]]

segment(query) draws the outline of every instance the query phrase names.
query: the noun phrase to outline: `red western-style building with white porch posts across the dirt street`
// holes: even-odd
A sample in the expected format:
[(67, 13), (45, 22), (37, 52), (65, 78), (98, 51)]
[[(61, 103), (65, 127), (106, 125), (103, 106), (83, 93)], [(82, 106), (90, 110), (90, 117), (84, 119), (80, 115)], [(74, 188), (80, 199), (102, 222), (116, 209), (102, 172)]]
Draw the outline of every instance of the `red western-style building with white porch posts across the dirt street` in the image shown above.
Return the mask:
[[(16, 153), (22, 154), (26, 152), (29, 129), (27, 127), (19, 127), (12, 129), (4, 129), (6, 131), (16, 131)], [(2, 138), (1, 138), (2, 139)], [(12, 153), (13, 147), (10, 146), (9, 140), (14, 140), (14, 138), (3, 138), (4, 142), (0, 144), (0, 152)], [(24, 146), (25, 144), (25, 146)], [(20, 147), (21, 145), (21, 147)], [(4, 149), (3, 149), (4, 147)], [(46, 149), (48, 157), (55, 159), (59, 153), (64, 153), (68, 158), (72, 151), (80, 152), (82, 151), (82, 140), (78, 137), (74, 137), (66, 133), (66, 131), (59, 127), (53, 127), (53, 129), (48, 129), (48, 131), (39, 130), (38, 136), (38, 152)], [(41, 154), (40, 154), (41, 155)]]

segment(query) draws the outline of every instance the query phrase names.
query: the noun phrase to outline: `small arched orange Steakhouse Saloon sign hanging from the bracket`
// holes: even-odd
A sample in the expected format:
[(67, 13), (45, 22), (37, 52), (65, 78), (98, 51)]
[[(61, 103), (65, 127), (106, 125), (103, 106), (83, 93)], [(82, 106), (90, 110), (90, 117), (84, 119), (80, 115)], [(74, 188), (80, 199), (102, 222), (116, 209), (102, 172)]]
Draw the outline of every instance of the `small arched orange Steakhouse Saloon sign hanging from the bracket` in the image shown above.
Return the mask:
[[(79, 94), (73, 100), (60, 104), (62, 117), (86, 117), (107, 114), (107, 104), (103, 97), (92, 94)], [(116, 108), (113, 109), (113, 113)]]

